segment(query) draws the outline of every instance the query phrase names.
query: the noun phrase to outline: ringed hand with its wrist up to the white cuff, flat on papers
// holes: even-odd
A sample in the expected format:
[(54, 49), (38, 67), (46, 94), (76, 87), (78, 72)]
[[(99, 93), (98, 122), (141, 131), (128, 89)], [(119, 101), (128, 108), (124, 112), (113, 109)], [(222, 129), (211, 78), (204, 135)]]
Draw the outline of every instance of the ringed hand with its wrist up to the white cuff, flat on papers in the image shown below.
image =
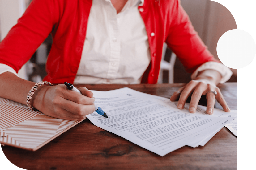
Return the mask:
[[(211, 76), (209, 76), (209, 74)], [(212, 75), (216, 75), (213, 77)], [(178, 91), (170, 97), (171, 101), (175, 101), (179, 98), (177, 108), (183, 109), (187, 98), (191, 95), (189, 112), (195, 113), (197, 109), (198, 102), (202, 95), (206, 95), (207, 108), (206, 113), (213, 114), (213, 108), (215, 104), (215, 99), (223, 107), (223, 110), (230, 112), (230, 109), (220, 92), (220, 89), (216, 87), (221, 77), (220, 74), (214, 70), (202, 71), (196, 78), (196, 80), (191, 80), (188, 84), (181, 87)], [(216, 95), (213, 92), (217, 92)]]

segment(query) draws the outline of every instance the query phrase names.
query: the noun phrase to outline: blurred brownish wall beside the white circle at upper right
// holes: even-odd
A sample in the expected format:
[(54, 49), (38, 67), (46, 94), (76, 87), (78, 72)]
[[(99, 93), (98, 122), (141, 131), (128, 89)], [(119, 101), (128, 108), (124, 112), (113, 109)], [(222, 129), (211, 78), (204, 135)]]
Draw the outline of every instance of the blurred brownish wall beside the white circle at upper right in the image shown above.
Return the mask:
[[(219, 59), (216, 47), (220, 36), (228, 30), (237, 29), (232, 11), (225, 4), (210, 0), (181, 0), (181, 5), (209, 51)], [(231, 70), (238, 76), (237, 69)]]

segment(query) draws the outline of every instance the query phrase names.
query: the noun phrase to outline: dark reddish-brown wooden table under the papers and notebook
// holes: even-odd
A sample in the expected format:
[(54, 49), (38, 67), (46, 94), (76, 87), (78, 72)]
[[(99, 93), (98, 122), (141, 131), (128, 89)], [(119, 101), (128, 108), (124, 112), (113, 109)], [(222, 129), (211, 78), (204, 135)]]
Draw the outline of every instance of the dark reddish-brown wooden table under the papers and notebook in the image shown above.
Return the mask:
[[(184, 84), (86, 85), (91, 90), (130, 87), (152, 95), (170, 97)], [(238, 109), (238, 83), (219, 86), (230, 109)], [(205, 99), (201, 101), (205, 103)], [(221, 108), (217, 103), (216, 108)], [(104, 143), (104, 144), (103, 144)], [(238, 138), (222, 128), (204, 147), (184, 146), (161, 157), (111, 132), (94, 126), (88, 119), (79, 123), (35, 152), (2, 146), (2, 152), (23, 169), (238, 169)], [(1, 167), (6, 162), (4, 157)], [(7, 169), (7, 168), (5, 168)], [(18, 168), (17, 168), (18, 169)]]

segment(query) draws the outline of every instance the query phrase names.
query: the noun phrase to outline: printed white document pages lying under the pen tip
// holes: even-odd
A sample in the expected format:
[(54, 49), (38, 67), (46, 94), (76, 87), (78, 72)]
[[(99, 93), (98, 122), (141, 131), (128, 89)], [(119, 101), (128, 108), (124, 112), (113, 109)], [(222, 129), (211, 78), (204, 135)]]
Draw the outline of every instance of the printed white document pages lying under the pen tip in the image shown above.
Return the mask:
[(87, 118), (96, 126), (117, 134), (160, 156), (185, 145), (204, 145), (237, 113), (214, 109), (213, 115), (198, 106), (196, 113), (177, 109), (177, 102), (130, 88), (92, 91), (95, 103), (109, 116), (96, 112)]

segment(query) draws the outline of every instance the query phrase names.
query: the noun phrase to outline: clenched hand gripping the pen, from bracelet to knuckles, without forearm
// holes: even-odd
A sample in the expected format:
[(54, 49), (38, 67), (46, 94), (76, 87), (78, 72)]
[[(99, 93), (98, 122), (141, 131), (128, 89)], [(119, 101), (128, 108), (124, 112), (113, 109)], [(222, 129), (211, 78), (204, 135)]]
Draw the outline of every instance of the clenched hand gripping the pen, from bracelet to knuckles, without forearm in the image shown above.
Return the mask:
[(66, 120), (83, 120), (95, 110), (93, 93), (78, 88), (83, 95), (70, 91), (64, 84), (42, 86), (35, 94), (32, 106), (46, 115)]

